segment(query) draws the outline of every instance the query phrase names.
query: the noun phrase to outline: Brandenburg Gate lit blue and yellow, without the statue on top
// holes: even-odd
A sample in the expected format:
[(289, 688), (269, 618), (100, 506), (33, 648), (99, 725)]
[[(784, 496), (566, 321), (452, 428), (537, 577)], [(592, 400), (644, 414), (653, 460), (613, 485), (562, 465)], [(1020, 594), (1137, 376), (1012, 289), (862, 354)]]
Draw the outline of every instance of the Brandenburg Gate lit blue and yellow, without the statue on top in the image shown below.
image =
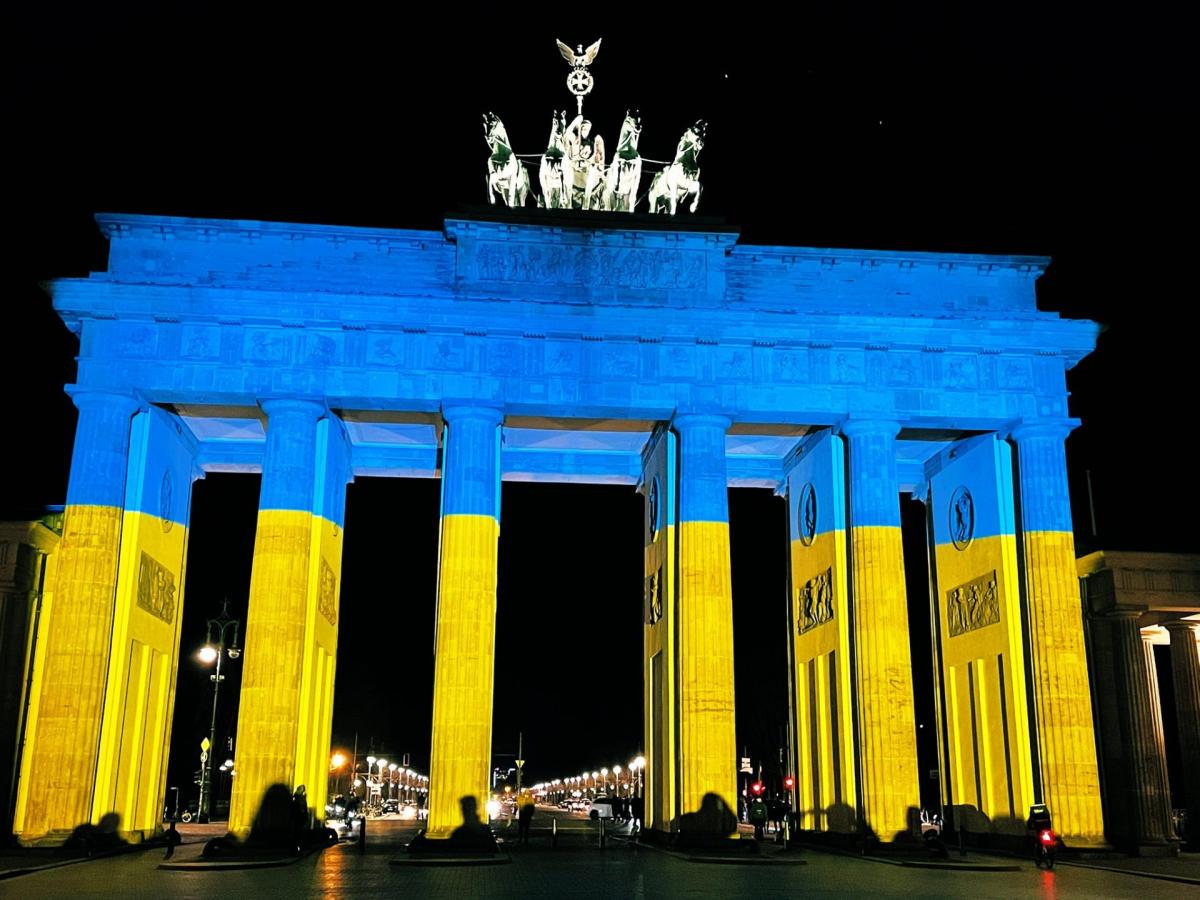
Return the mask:
[(1063, 450), (1066, 372), (1097, 326), (1037, 310), (1046, 259), (749, 246), (704, 220), (570, 210), (431, 232), (97, 221), (107, 269), (50, 286), (79, 336), (79, 421), (23, 841), (109, 812), (161, 827), (191, 486), (254, 472), (234, 832), (276, 782), (324, 816), (346, 486), (384, 475), (442, 482), (438, 559), (396, 548), (439, 572), (431, 838), (487, 798), (500, 484), (540, 480), (646, 498), (649, 828), (709, 792), (734, 805), (727, 490), (752, 486), (788, 504), (802, 826), (890, 841), (920, 805), (912, 494), (943, 796), (978, 832), (1045, 802), (1068, 844), (1102, 842)]

